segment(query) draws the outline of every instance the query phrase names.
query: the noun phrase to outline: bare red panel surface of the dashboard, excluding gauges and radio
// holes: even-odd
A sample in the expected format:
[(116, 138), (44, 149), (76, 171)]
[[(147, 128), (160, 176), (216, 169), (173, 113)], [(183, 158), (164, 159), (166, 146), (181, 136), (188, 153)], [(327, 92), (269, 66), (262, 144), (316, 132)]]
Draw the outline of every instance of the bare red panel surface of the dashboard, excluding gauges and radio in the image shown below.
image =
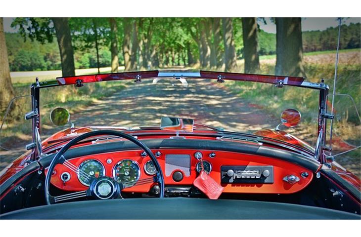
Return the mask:
[[(191, 186), (194, 179), (197, 177), (198, 172), (196, 171), (196, 164), (198, 160), (194, 158), (194, 153), (198, 150), (174, 150), (174, 149), (162, 149), (162, 150), (153, 150), (155, 153), (157, 151), (161, 152), (161, 156), (157, 159), (160, 163), (160, 166), (163, 170), (165, 185), (166, 186)], [(144, 164), (150, 160), (149, 157), (142, 158), (140, 156), (141, 150), (137, 151), (123, 151), (123, 152), (113, 152), (105, 154), (97, 154), (84, 156), (81, 158), (73, 158), (69, 161), (76, 166), (79, 166), (83, 161), (87, 159), (96, 159), (100, 161), (105, 168), (105, 175), (112, 177), (112, 171), (115, 164), (123, 159), (132, 159), (139, 164), (140, 167), (140, 178), (139, 180), (150, 178), (151, 175), (148, 175), (144, 172)], [(291, 194), (298, 192), (304, 189), (312, 180), (313, 172), (307, 170), (299, 165), (290, 163), (284, 160), (276, 158), (268, 158), (256, 155), (249, 154), (240, 154), (233, 152), (225, 151), (203, 151), (200, 150), (203, 155), (203, 160), (207, 160), (212, 164), (212, 171), (210, 176), (216, 180), (216, 182), (221, 183), (221, 166), (225, 165), (240, 165), (240, 166), (273, 166), (273, 183), (271, 184), (262, 184), (262, 183), (239, 183), (239, 184), (224, 184), (224, 193), (253, 193), (253, 194)], [(215, 152), (215, 158), (210, 158), (209, 154)], [(185, 174), (184, 171), (180, 169), (174, 169), (170, 174), (166, 175), (165, 172), (165, 157), (166, 155), (189, 155), (190, 156), (190, 173)], [(111, 159), (111, 163), (107, 162), (107, 159)], [(69, 172), (71, 178), (68, 182), (63, 184), (63, 181), (60, 179), (60, 175), (63, 172)], [(176, 171), (181, 171), (183, 173), (183, 179), (180, 182), (176, 182), (172, 178), (172, 174)], [(301, 173), (307, 172), (308, 177), (302, 177)], [(169, 171), (168, 171), (169, 173)], [(187, 176), (188, 175), (188, 176)], [(287, 175), (295, 175), (300, 178), (295, 184), (289, 184), (283, 181), (283, 178)], [(65, 191), (82, 191), (88, 189), (87, 186), (84, 186), (80, 183), (77, 178), (77, 175), (65, 167), (62, 164), (57, 164), (55, 166), (55, 172), (51, 178), (51, 184), (57, 188)], [(149, 192), (152, 185), (155, 183), (147, 183), (142, 185), (136, 185), (129, 187), (123, 190), (123, 192)]]

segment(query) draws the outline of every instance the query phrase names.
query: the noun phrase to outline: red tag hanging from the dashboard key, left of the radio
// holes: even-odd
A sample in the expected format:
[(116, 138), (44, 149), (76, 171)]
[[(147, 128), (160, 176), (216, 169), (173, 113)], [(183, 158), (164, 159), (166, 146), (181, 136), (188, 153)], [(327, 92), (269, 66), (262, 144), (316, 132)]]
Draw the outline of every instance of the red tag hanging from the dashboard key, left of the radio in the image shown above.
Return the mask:
[(212, 179), (202, 169), (199, 176), (193, 181), (193, 185), (202, 191), (209, 199), (218, 199), (223, 192), (223, 187)]

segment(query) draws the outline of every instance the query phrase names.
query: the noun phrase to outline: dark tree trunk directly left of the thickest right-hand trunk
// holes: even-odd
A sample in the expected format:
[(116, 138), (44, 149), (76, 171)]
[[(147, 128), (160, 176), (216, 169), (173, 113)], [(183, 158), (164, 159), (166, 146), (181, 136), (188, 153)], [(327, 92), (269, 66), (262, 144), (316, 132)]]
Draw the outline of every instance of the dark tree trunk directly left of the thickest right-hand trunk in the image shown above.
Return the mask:
[(258, 56), (258, 27), (256, 18), (242, 17), (244, 73), (257, 73), (260, 70)]

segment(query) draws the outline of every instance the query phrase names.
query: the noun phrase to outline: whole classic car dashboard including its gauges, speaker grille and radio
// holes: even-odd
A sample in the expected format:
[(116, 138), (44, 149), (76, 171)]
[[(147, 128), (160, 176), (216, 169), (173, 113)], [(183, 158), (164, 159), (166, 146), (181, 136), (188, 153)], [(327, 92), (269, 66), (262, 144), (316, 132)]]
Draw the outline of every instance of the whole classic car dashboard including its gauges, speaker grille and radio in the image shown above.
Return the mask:
[[(291, 194), (304, 189), (313, 172), (295, 163), (277, 158), (226, 151), (158, 149), (153, 150), (162, 168), (165, 185), (192, 186), (203, 167), (224, 187), (224, 193)], [(198, 158), (198, 159), (197, 159)], [(93, 177), (113, 177), (122, 182), (123, 192), (148, 193), (157, 183), (156, 170), (141, 150), (119, 151), (69, 159), (80, 169), (76, 174), (63, 164), (57, 164), (51, 184), (63, 191), (83, 191), (89, 182), (79, 173)]]

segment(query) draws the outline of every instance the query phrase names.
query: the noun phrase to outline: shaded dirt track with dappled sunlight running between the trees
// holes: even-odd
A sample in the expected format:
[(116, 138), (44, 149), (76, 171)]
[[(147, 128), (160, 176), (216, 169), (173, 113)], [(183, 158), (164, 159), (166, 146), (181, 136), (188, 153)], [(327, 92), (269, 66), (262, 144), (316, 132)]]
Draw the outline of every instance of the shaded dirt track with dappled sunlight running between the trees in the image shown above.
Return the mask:
[[(156, 85), (144, 80), (83, 108), (71, 118), (76, 126), (135, 127), (159, 126), (162, 116), (175, 116), (194, 118), (195, 122), (226, 130), (248, 132), (274, 128), (279, 122), (279, 118), (268, 115), (261, 107), (239, 98), (220, 84), (198, 79), (188, 82), (188, 87), (182, 87), (175, 79), (160, 80)], [(58, 128), (43, 129), (43, 132), (50, 135), (56, 130)], [(0, 153), (2, 169), (14, 159), (14, 154)], [(345, 163), (340, 160), (340, 163), (360, 175), (359, 163), (353, 160)]]

